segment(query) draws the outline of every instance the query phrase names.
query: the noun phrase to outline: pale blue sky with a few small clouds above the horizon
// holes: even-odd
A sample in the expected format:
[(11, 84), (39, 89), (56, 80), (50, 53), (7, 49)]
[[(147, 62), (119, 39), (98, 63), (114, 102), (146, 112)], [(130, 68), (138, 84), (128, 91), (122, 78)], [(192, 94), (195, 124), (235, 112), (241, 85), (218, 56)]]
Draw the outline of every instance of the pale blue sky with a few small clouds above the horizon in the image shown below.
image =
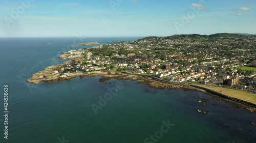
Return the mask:
[(0, 37), (256, 34), (254, 0), (2, 0)]

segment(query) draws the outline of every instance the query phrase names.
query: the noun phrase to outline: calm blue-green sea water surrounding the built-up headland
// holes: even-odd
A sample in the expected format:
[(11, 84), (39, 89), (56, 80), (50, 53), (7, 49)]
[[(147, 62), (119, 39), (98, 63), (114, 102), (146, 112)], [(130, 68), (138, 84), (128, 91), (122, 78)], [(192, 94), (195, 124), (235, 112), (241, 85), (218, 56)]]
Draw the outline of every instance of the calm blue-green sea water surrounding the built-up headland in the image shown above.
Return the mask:
[[(101, 44), (138, 37), (84, 38)], [(0, 142), (256, 142), (256, 114), (183, 90), (156, 90), (136, 81), (98, 77), (27, 83), (32, 74), (65, 60), (57, 56), (74, 38), (0, 39), (0, 85), (9, 85), (8, 139), (4, 139), (3, 90), (0, 96)], [(52, 43), (47, 45), (47, 43)], [(92, 47), (92, 46), (86, 46)], [(92, 104), (108, 88), (123, 86), (95, 114)], [(147, 92), (150, 90), (151, 92)], [(208, 105), (203, 106), (203, 102)], [(206, 114), (197, 110), (208, 111)], [(161, 132), (163, 122), (173, 124)], [(225, 125), (227, 124), (227, 125)], [(161, 133), (160, 133), (161, 132)], [(157, 134), (156, 134), (157, 133)], [(154, 139), (150, 136), (154, 135)], [(156, 136), (158, 138), (156, 138)]]

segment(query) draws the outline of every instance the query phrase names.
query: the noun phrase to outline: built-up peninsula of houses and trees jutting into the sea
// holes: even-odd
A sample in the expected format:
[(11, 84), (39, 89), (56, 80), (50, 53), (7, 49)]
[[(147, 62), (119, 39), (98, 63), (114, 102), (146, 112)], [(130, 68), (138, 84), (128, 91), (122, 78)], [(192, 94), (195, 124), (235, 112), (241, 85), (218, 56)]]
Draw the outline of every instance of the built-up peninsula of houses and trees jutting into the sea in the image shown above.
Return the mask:
[(255, 57), (255, 35), (145, 37), (64, 52), (59, 58), (71, 61), (46, 68), (27, 81), (103, 75), (102, 80), (132, 79), (157, 89), (204, 90), (255, 107)]

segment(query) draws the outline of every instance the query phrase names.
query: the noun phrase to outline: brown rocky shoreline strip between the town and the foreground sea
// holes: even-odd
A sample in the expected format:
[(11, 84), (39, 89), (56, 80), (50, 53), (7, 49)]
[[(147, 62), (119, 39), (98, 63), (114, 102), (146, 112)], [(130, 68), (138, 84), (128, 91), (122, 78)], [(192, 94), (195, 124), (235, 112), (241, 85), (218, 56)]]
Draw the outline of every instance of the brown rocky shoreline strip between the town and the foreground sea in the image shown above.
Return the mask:
[(38, 76), (40, 76), (42, 74), (48, 74), (49, 72), (52, 72), (52, 71), (58, 69), (60, 66), (62, 66), (62, 64), (50, 66), (50, 67), (46, 68), (44, 71), (39, 71), (38, 73), (33, 74), (29, 79), (27, 79), (27, 81), (32, 82), (32, 83), (40, 83), (41, 81), (49, 82), (49, 81), (58, 81), (58, 80), (68, 80), (68, 79), (75, 78), (78, 76), (80, 78), (102, 76), (99, 79), (100, 82), (108, 81), (112, 78), (116, 78), (119, 80), (133, 80), (133, 81), (137, 80), (138, 83), (145, 84), (148, 87), (154, 88), (154, 89), (183, 89), (185, 91), (203, 92), (205, 94), (208, 94), (208, 95), (211, 95), (211, 96), (217, 98), (217, 100), (231, 102), (234, 106), (236, 106), (238, 108), (245, 109), (250, 112), (256, 112), (256, 104), (249, 102), (249, 101), (245, 101), (245, 100), (238, 99), (235, 97), (230, 97), (223, 93), (213, 91), (208, 88), (203, 88), (203, 87), (200, 87), (200, 86), (194, 85), (194, 84), (167, 83), (167, 81), (163, 82), (161, 80), (144, 77), (143, 75), (113, 74), (113, 73), (108, 73), (108, 72), (95, 71), (95, 72), (90, 72), (90, 73), (78, 72), (78, 73), (70, 74), (68, 77), (65, 77), (65, 78), (60, 78), (59, 76), (52, 77), (52, 78), (38, 78)]

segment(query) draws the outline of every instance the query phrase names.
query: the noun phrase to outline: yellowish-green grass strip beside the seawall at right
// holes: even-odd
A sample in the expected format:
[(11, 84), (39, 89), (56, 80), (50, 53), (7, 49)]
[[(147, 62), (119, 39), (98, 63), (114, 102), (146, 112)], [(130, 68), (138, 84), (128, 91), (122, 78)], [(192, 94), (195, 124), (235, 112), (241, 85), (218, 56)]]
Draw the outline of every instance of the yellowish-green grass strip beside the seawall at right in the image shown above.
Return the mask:
[(248, 93), (248, 92), (241, 91), (241, 90), (232, 90), (232, 89), (227, 89), (227, 88), (222, 88), (222, 87), (214, 87), (211, 85), (199, 85), (199, 86), (226, 94), (230, 97), (242, 99), (244, 101), (248, 101), (248, 102), (256, 104), (256, 94), (253, 94), (253, 93)]

